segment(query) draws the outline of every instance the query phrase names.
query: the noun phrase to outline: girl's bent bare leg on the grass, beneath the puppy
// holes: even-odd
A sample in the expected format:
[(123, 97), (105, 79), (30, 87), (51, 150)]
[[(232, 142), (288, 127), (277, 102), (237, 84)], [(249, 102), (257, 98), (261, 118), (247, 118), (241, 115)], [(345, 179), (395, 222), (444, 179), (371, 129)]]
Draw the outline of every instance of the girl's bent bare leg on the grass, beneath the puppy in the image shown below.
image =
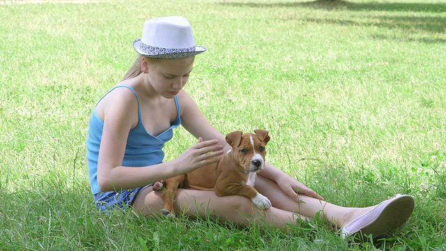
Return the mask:
[[(209, 216), (236, 225), (263, 225), (266, 221), (281, 228), (286, 227), (286, 224), (295, 224), (297, 220), (306, 219), (297, 213), (274, 206), (263, 211), (252, 204), (250, 199), (241, 196), (218, 197), (213, 191), (178, 189), (175, 201), (177, 212), (185, 212), (191, 216), (200, 215), (202, 218)], [(152, 187), (142, 190), (137, 195), (133, 207), (148, 216), (160, 215), (160, 192), (153, 192)]]

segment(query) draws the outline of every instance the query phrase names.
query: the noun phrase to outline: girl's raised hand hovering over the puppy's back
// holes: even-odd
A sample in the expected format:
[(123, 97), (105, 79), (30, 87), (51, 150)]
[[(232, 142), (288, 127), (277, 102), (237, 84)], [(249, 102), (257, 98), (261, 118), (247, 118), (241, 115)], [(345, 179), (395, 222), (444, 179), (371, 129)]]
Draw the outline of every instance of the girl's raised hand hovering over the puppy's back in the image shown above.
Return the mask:
[(217, 139), (203, 141), (199, 137), (198, 143), (190, 146), (176, 160), (180, 163), (178, 166), (183, 169), (182, 173), (188, 173), (204, 165), (218, 162), (219, 159), (216, 157), (222, 154), (223, 146), (218, 144)]

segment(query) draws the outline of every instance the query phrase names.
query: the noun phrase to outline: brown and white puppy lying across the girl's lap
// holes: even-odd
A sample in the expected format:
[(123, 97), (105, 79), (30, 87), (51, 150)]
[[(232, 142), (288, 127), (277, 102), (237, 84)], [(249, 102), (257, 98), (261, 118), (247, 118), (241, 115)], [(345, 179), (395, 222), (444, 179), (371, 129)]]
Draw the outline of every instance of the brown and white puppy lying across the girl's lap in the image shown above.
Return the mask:
[(230, 132), (226, 142), (232, 147), (219, 162), (200, 167), (189, 174), (168, 178), (161, 197), (162, 213), (174, 216), (174, 197), (178, 185), (195, 190), (215, 190), (218, 196), (241, 195), (252, 200), (261, 209), (271, 206), (270, 200), (254, 188), (256, 174), (265, 167), (266, 144), (270, 141), (267, 130), (254, 133)]

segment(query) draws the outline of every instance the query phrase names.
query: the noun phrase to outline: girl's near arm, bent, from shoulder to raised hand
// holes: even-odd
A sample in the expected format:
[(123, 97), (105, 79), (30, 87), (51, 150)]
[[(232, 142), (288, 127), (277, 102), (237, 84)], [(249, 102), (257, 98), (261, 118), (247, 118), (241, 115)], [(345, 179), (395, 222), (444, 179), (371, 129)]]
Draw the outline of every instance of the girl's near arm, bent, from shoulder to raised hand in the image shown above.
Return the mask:
[[(113, 95), (118, 97), (112, 98)], [(134, 126), (137, 100), (131, 91), (123, 89), (109, 93), (103, 109), (104, 129), (98, 159), (98, 185), (102, 192), (116, 189), (137, 188), (187, 172), (192, 172), (222, 154), (217, 140), (204, 141), (191, 146), (175, 160), (150, 167), (123, 167), (125, 145), (130, 129)], [(137, 119), (137, 117), (136, 117)]]

